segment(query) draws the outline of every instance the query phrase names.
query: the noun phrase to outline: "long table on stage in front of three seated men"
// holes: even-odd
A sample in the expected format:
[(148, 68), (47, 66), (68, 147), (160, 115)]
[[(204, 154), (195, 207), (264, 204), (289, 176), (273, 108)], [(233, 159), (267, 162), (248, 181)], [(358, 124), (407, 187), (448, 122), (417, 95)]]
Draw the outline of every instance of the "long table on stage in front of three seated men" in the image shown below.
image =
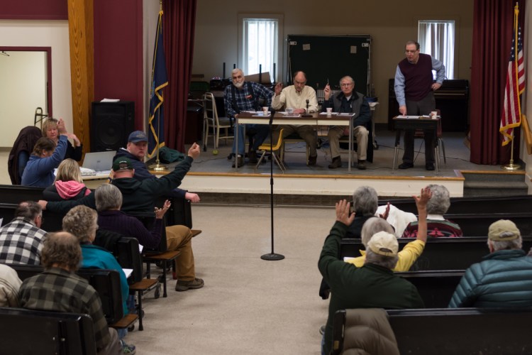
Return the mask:
[[(314, 114), (309, 114), (311, 117), (301, 117), (300, 114), (284, 114), (283, 112), (276, 112), (271, 117), (271, 114), (264, 116), (262, 111), (251, 112), (251, 111), (242, 111), (238, 114), (238, 117), (235, 119), (235, 127), (238, 127), (239, 124), (294, 124), (294, 125), (305, 125), (310, 126), (349, 126), (349, 165), (348, 172), (351, 172), (351, 157), (353, 155), (353, 119), (352, 115), (347, 114), (331, 114), (331, 117), (328, 117), (325, 113), (320, 114), (315, 112)], [(235, 128), (236, 129), (236, 128)], [(235, 139), (238, 133), (235, 133)], [(245, 136), (245, 134), (244, 134)], [(243, 142), (244, 143), (244, 142)], [(245, 144), (245, 143), (244, 143)], [(236, 148), (235, 151), (238, 152), (238, 139), (236, 139)], [(235, 159), (235, 168), (238, 169), (238, 159)]]

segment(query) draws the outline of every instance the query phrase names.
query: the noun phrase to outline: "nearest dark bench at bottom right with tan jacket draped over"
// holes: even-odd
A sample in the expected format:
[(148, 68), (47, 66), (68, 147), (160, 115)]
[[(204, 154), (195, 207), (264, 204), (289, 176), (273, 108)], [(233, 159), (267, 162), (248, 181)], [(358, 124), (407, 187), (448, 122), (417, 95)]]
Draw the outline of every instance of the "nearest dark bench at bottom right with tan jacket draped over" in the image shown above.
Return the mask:
[[(333, 351), (343, 351), (349, 318), (339, 310), (333, 320)], [(531, 308), (455, 308), (387, 310), (399, 352), (426, 354), (532, 354)]]

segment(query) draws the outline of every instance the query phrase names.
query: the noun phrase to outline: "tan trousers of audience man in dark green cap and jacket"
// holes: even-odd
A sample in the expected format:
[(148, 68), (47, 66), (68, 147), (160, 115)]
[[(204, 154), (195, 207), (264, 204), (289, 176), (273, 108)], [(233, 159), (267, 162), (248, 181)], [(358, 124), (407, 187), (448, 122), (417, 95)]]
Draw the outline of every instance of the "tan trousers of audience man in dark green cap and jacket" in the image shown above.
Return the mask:
[(166, 246), (168, 251), (179, 251), (175, 258), (177, 278), (192, 281), (196, 278), (194, 253), (192, 252), (192, 232), (187, 226), (167, 226)]

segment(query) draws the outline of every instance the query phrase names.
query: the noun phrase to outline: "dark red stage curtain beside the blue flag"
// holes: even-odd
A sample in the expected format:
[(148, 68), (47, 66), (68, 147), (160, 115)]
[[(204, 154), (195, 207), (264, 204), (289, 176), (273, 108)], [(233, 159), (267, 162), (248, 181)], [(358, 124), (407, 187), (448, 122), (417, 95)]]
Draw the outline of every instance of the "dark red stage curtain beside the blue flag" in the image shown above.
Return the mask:
[(187, 98), (194, 54), (196, 0), (162, 4), (168, 86), (165, 89), (165, 145), (184, 152)]

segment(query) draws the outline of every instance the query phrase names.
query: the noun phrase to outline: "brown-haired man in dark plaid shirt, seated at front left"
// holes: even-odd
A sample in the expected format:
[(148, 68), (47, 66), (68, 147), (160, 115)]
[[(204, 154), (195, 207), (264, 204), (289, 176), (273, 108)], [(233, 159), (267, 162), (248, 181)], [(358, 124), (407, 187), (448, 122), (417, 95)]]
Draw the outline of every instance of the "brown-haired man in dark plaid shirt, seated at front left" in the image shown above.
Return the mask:
[(120, 354), (118, 334), (107, 327), (98, 293), (74, 273), (81, 258), (82, 249), (74, 235), (66, 231), (48, 234), (43, 248), (45, 271), (23, 281), (18, 301), (31, 310), (90, 315), (98, 354)]

